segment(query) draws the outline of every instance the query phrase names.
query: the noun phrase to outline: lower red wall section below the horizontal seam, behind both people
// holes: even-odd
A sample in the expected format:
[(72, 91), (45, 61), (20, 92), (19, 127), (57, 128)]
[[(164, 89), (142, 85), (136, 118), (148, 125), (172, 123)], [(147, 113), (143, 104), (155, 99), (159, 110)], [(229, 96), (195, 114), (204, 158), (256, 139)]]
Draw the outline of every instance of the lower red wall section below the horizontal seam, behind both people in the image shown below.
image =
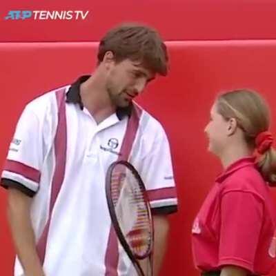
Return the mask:
[[(96, 48), (97, 43), (6, 43), (1, 46), (0, 164), (24, 104), (49, 89), (70, 83), (77, 75), (91, 72)], [(250, 87), (262, 91), (275, 117), (276, 42), (170, 42), (168, 48), (170, 75), (151, 83), (139, 102), (166, 128), (179, 193), (179, 213), (171, 217), (169, 248), (161, 275), (196, 276), (190, 228), (220, 171), (219, 162), (206, 152), (203, 130), (210, 105), (218, 91)], [(4, 215), (3, 190), (0, 198), (0, 267), (1, 275), (9, 276), (14, 252)]]

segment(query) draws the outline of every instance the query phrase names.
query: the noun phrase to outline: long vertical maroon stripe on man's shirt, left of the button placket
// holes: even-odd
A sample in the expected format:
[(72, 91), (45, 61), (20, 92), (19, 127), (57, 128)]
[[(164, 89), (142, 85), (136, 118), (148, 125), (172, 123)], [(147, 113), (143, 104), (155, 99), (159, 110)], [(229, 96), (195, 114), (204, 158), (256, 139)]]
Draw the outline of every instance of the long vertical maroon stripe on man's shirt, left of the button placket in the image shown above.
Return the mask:
[(55, 201), (57, 199), (57, 196), (59, 195), (59, 191), (63, 183), (65, 166), (66, 166), (67, 128), (66, 128), (66, 104), (65, 104), (66, 92), (65, 90), (64, 89), (57, 90), (56, 97), (57, 97), (57, 106), (58, 106), (57, 132), (56, 132), (55, 141), (54, 141), (56, 166), (55, 166), (54, 176), (52, 178), (52, 190), (51, 190), (51, 197), (50, 197), (48, 221), (37, 244), (37, 252), (39, 255), (39, 259), (41, 260), (41, 264), (43, 264), (45, 259), (46, 244), (47, 244), (47, 238), (48, 238), (48, 233), (50, 228), (50, 221), (52, 217), (52, 209), (54, 208)]

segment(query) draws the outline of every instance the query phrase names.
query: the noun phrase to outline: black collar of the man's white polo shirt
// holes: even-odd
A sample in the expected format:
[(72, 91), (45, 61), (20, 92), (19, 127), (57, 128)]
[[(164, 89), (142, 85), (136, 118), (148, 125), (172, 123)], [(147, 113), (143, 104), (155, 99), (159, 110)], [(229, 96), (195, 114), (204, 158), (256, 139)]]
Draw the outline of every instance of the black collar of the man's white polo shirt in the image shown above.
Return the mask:
[[(84, 75), (79, 77), (77, 81), (71, 84), (67, 94), (66, 94), (66, 103), (77, 103), (79, 108), (83, 110), (83, 103), (81, 101), (80, 95), (80, 86), (81, 83), (87, 81), (90, 78), (90, 75)], [(127, 106), (126, 108), (117, 108), (116, 114), (119, 120), (123, 119), (125, 116), (130, 117), (132, 111), (132, 105)]]

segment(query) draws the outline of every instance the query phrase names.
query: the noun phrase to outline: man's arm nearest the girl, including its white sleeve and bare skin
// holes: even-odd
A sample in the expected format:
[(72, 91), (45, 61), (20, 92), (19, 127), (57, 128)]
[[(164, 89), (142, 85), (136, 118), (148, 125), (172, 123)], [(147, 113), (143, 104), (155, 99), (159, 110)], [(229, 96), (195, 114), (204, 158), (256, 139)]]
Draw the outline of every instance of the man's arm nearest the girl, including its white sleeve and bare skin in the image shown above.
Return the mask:
[(150, 201), (155, 227), (153, 266), (154, 275), (157, 276), (166, 251), (168, 215), (177, 211), (177, 191), (166, 132), (159, 123), (150, 121), (144, 133), (145, 148), (149, 151), (145, 152), (142, 161), (137, 159), (134, 164), (139, 168)]

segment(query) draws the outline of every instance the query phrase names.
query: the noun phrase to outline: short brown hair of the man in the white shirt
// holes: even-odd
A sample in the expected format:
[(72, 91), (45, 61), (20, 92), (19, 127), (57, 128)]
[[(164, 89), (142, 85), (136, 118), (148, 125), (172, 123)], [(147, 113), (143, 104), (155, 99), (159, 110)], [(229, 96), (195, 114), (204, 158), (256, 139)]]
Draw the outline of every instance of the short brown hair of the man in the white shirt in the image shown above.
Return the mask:
[(166, 45), (153, 28), (137, 23), (124, 23), (112, 28), (99, 43), (99, 63), (108, 51), (113, 53), (116, 62), (124, 59), (139, 61), (151, 72), (167, 75)]

